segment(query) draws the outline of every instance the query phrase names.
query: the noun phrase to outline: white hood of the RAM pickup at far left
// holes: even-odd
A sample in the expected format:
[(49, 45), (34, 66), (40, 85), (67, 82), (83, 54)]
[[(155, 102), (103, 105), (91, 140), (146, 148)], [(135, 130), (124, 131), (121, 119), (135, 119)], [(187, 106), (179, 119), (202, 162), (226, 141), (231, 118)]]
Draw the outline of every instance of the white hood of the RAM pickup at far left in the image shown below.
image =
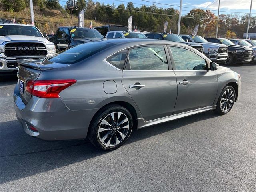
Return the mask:
[(3, 42), (8, 42), (8, 41), (25, 41), (25, 42), (31, 42), (31, 41), (39, 41), (39, 42), (44, 42), (46, 44), (52, 44), (52, 42), (48, 41), (44, 37), (35, 37), (35, 36), (28, 36), (28, 35), (6, 35), (6, 36), (0, 36), (0, 44)]

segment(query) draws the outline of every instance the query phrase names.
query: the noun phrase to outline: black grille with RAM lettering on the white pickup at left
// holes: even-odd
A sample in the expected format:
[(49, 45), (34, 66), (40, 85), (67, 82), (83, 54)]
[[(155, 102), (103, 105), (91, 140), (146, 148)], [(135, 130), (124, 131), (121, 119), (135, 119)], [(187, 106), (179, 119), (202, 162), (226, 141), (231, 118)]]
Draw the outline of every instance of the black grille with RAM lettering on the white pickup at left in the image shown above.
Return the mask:
[(7, 57), (46, 56), (47, 50), (43, 43), (15, 42), (5, 45), (4, 54)]

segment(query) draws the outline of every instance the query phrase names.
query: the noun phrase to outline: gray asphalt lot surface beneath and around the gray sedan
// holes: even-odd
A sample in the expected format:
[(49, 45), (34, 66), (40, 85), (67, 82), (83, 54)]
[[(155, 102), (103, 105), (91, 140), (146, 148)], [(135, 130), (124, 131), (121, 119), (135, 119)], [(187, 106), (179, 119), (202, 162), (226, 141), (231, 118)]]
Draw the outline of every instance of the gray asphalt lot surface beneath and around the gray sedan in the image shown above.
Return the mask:
[(16, 77), (1, 77), (0, 191), (256, 191), (256, 66), (230, 68), (242, 76), (231, 112), (134, 130), (111, 152), (28, 136), (13, 108)]

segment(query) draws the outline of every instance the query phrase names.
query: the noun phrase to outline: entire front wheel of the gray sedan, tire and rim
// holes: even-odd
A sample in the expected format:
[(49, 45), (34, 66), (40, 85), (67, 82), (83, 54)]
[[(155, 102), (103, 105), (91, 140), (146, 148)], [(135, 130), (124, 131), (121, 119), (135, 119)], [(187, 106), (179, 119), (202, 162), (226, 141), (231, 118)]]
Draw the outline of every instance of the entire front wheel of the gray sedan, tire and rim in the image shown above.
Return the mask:
[(218, 99), (217, 107), (214, 110), (218, 114), (227, 114), (234, 106), (236, 92), (232, 86), (226, 86)]

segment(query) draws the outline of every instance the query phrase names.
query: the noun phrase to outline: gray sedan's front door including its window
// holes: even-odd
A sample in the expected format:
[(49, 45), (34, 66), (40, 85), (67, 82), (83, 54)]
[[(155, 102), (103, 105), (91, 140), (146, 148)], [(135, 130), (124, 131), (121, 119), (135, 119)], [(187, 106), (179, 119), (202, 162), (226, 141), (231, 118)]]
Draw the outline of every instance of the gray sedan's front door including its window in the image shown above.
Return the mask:
[(178, 85), (174, 114), (212, 106), (218, 89), (216, 71), (207, 70), (205, 58), (194, 50), (169, 48)]

